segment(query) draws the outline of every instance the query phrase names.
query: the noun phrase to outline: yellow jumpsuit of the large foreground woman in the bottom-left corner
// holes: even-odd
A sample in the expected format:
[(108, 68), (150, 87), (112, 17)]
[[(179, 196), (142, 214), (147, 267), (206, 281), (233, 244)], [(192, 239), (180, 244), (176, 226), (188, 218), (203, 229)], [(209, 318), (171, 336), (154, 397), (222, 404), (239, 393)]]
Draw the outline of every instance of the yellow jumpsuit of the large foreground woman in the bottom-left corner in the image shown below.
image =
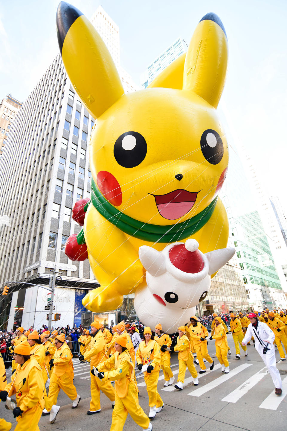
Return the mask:
[(44, 383), (42, 370), (31, 356), (23, 365), (18, 365), (5, 390), (9, 397), (16, 394), (17, 406), (23, 410), (17, 417), (15, 431), (39, 431), (38, 422), (44, 408)]

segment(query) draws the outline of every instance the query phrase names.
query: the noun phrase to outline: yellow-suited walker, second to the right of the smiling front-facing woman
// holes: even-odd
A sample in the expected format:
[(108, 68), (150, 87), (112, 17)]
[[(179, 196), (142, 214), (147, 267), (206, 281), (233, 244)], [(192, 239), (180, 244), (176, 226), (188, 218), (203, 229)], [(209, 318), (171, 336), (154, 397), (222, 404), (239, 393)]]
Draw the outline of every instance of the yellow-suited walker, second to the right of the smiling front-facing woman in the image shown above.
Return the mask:
[(171, 350), (174, 352), (179, 352), (179, 375), (177, 378), (177, 383), (174, 385), (176, 389), (183, 389), (183, 382), (185, 378), (186, 367), (193, 377), (194, 386), (198, 385), (198, 372), (193, 365), (193, 356), (191, 353), (191, 345), (188, 337), (185, 335), (185, 326), (179, 327), (179, 336), (177, 337), (176, 346)]

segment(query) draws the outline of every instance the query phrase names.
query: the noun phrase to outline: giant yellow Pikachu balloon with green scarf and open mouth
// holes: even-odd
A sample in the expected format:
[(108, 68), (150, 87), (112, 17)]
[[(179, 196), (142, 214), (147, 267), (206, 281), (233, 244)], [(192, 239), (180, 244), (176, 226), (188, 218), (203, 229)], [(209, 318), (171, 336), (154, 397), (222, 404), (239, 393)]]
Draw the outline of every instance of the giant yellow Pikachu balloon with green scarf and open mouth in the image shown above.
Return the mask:
[(83, 305), (103, 312), (145, 284), (140, 246), (160, 251), (192, 236), (203, 253), (226, 247), (228, 220), (218, 193), (228, 149), (216, 108), (228, 43), (219, 17), (209, 13), (198, 23), (186, 56), (147, 89), (124, 94), (89, 20), (61, 2), (56, 21), (65, 69), (96, 118), (89, 145), (91, 199), (78, 244), (86, 243), (100, 284)]

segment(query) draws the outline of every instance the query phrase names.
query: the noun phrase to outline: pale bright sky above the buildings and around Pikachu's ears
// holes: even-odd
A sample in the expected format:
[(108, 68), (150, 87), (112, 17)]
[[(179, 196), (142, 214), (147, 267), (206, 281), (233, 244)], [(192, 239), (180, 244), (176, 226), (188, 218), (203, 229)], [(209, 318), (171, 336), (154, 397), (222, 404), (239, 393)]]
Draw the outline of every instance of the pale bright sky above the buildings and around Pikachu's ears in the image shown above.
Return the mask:
[[(0, 99), (24, 101), (59, 52), (58, 0), (0, 2)], [(140, 75), (177, 37), (189, 43), (207, 12), (225, 26), (229, 64), (220, 109), (232, 139), (250, 152), (264, 188), (286, 208), (287, 2), (74, 0), (87, 17), (99, 6), (120, 28), (121, 65)], [(240, 181), (240, 178), (238, 178)]]

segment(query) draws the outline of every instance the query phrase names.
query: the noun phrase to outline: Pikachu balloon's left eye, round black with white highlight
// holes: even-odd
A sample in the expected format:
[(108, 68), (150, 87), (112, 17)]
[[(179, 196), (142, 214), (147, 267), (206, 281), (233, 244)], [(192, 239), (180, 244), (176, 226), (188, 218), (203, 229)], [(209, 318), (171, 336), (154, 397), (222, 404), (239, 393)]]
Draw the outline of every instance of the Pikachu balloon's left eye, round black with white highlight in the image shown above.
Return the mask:
[(134, 168), (145, 159), (147, 150), (145, 138), (140, 133), (125, 132), (114, 144), (114, 158), (123, 168)]

